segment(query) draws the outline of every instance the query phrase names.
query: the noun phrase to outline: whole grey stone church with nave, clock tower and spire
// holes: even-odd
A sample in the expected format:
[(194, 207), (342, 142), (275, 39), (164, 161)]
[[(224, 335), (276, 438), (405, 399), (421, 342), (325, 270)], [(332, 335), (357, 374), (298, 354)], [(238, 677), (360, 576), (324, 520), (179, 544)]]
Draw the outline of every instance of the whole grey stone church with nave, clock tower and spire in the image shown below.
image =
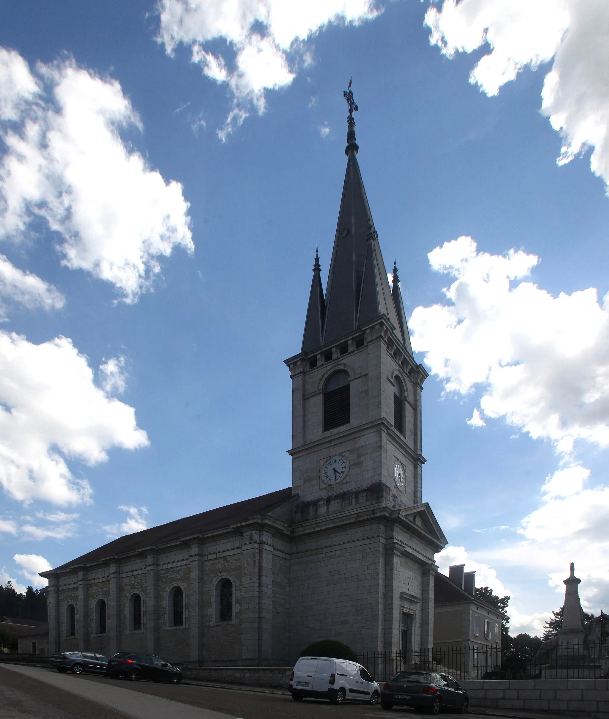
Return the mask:
[(326, 291), (316, 252), (292, 383), (290, 487), (120, 537), (49, 580), (50, 651), (147, 652), (202, 666), (287, 666), (312, 641), (358, 652), (434, 643), (421, 502), (421, 391), (397, 267), (389, 283), (357, 162)]

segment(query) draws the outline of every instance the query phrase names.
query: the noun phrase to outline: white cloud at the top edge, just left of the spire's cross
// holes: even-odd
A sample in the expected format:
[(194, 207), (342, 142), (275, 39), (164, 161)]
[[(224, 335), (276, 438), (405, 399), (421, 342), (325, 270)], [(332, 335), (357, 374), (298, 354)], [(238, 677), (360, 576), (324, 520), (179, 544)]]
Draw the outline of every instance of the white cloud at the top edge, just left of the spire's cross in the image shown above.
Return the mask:
[[(329, 24), (360, 24), (381, 12), (375, 0), (160, 0), (159, 9), (157, 39), (168, 55), (180, 43), (189, 45), (191, 61), (211, 80), (227, 83), (232, 92), (234, 107), (219, 130), (221, 139), (242, 124), (250, 103), (260, 114), (265, 111), (265, 91), (290, 85), (298, 69), (298, 63), (290, 65), (290, 52), (306, 66), (311, 56), (302, 43), (309, 37)], [(205, 49), (206, 43), (219, 39), (234, 54), (232, 63)]]

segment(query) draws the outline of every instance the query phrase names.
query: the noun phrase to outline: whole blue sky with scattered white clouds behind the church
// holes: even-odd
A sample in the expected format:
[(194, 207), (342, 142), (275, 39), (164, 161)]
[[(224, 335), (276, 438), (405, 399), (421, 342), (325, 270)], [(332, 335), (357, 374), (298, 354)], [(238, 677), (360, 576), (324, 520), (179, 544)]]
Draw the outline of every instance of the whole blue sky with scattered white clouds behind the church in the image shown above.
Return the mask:
[(3, 581), (290, 484), (283, 359), (316, 244), (326, 278), (352, 76), (430, 372), (439, 565), (509, 592), (516, 631), (570, 561), (609, 602), (609, 13), (516, 5), (2, 6)]

